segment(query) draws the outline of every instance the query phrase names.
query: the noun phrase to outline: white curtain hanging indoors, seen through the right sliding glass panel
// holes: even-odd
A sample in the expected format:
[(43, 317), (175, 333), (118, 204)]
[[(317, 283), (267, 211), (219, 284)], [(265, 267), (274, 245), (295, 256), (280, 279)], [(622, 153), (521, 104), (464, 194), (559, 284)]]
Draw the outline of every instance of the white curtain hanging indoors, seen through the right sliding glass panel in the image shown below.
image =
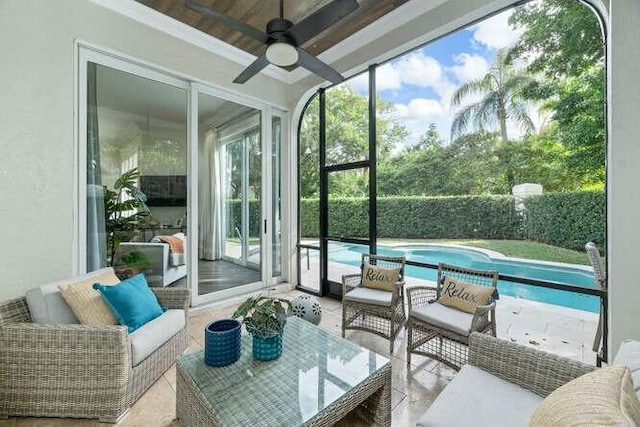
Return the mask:
[(217, 147), (217, 131), (212, 129), (200, 144), (199, 156), (199, 258), (213, 261), (222, 258), (222, 183)]

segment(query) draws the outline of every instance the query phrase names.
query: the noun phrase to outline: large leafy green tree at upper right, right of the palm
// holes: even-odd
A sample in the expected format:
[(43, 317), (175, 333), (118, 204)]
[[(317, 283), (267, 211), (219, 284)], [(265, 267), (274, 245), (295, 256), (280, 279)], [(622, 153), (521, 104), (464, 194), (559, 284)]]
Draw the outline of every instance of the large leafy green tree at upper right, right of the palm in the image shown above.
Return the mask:
[(509, 22), (524, 28), (510, 60), (528, 62), (530, 72), (544, 76), (526, 93), (551, 114), (545, 133), (566, 148), (565, 167), (578, 187), (602, 187), (605, 45), (598, 17), (576, 0), (540, 0), (516, 8)]

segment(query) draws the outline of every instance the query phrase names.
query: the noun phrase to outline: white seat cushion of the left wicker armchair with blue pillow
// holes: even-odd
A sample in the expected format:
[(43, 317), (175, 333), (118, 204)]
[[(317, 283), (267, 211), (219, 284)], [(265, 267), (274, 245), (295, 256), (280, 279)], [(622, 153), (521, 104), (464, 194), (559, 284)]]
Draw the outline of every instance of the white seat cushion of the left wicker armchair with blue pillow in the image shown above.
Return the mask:
[(129, 336), (131, 363), (137, 366), (151, 353), (166, 343), (186, 324), (184, 310), (167, 310), (161, 316), (145, 323)]

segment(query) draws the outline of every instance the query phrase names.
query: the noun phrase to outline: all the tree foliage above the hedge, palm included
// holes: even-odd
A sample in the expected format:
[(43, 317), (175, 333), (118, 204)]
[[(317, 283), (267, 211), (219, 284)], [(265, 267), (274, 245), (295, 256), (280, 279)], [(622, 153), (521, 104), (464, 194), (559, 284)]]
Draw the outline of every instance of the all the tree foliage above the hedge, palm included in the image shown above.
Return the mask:
[[(379, 196), (508, 194), (523, 182), (546, 191), (602, 188), (605, 173), (604, 40), (598, 19), (577, 0), (518, 6), (509, 22), (522, 29), (492, 68), (454, 92), (460, 107), (446, 144), (429, 124), (417, 144), (393, 106), (377, 98)], [(469, 101), (465, 105), (465, 102)], [(368, 156), (368, 97), (347, 85), (326, 92), (327, 164)], [(548, 121), (534, 132), (529, 113)], [(318, 99), (302, 118), (303, 197), (317, 197)], [(515, 126), (522, 135), (512, 134)], [(368, 197), (368, 171), (332, 172), (332, 196)]]

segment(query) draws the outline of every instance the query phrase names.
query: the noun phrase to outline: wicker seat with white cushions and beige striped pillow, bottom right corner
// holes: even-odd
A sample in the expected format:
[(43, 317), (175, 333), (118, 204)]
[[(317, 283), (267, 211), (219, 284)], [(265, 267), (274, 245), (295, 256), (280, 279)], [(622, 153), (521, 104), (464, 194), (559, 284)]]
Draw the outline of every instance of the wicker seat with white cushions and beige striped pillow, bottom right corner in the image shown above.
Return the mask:
[(612, 367), (604, 369), (618, 369), (623, 380), (611, 384), (595, 378), (605, 373), (595, 366), (473, 333), (468, 363), (417, 425), (555, 426), (569, 420), (571, 425), (637, 425), (640, 343), (625, 341)]

